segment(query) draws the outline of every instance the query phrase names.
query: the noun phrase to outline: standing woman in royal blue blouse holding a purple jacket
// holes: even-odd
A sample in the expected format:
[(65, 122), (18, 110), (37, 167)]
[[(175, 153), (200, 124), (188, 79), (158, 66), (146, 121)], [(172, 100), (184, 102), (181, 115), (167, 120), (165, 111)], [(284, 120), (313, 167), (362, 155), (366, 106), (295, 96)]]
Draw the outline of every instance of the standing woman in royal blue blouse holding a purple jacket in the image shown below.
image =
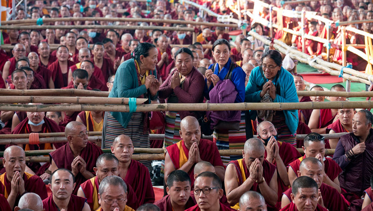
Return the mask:
[[(221, 80), (229, 79), (234, 87), (231, 90), (235, 92), (234, 103), (243, 103), (245, 100), (245, 77), (246, 73), (240, 66), (232, 62), (229, 58), (231, 54), (231, 46), (225, 39), (218, 39), (212, 45), (212, 56), (217, 63), (209, 66), (205, 72), (205, 88), (204, 96), (206, 99), (210, 99), (210, 92)], [(232, 102), (233, 103), (233, 102)], [(214, 141), (219, 149), (243, 149), (243, 145), (246, 141), (245, 134), (245, 114), (242, 112), (238, 117), (239, 128), (236, 129), (215, 129), (213, 133)], [(227, 119), (229, 122), (229, 119)], [(236, 160), (237, 157), (231, 156), (223, 157), (222, 160), (224, 165), (227, 165), (230, 160)]]

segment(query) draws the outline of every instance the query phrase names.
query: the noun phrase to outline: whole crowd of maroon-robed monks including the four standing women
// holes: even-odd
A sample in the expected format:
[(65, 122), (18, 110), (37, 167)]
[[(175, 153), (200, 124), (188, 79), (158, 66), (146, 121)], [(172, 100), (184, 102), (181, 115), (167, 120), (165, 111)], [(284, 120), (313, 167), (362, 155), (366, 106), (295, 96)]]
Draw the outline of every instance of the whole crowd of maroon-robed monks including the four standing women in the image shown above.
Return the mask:
[[(280, 0), (267, 1), (282, 6)], [(225, 0), (197, 3), (206, 3), (218, 14), (233, 10)], [(165, 0), (35, 0), (27, 5), (27, 12), (22, 6), (15, 9), (15, 19), (133, 17), (139, 22), (56, 21), (51, 25), (71, 25), (71, 29), (3, 30), (4, 44), (13, 45), (13, 49), (0, 50), (0, 88), (108, 91), (109, 98), (147, 98), (145, 104), (325, 99), (297, 97), (296, 91), (305, 90), (305, 81), (294, 70), (281, 67), (285, 55), (243, 34), (236, 36), (233, 44), (224, 27), (174, 25), (194, 27), (198, 34), (194, 43), (192, 32), (185, 31), (74, 28), (148, 26), (141, 22), (145, 17), (217, 22), (213, 16), (202, 17), (191, 6)], [(284, 8), (317, 11), (337, 22), (373, 19), (369, 0), (315, 0), (292, 5)], [(321, 21), (308, 20), (301, 26), (300, 20), (282, 17), (274, 10), (269, 13), (263, 7), (259, 13), (268, 20), (272, 15), (271, 19), (283, 27), (305, 27), (306, 33), (327, 38), (328, 26)], [(247, 30), (270, 34), (268, 27), (255, 21), (249, 25)], [(369, 22), (351, 26), (368, 33), (373, 29)], [(360, 35), (344, 35), (340, 27), (330, 27), (335, 45), (341, 44), (342, 36), (348, 44), (364, 44)], [(300, 36), (277, 30), (274, 38), (302, 48)], [(52, 44), (59, 46), (52, 51)], [(172, 44), (188, 47), (172, 48)], [(204, 44), (212, 45), (212, 49), (203, 48)], [(342, 63), (342, 50), (335, 45), (330, 51), (331, 61)], [(310, 55), (326, 58), (322, 43), (306, 40), (305, 48)], [(365, 60), (349, 52), (347, 61), (357, 70), (367, 66)], [(314, 86), (311, 90), (323, 88)], [(331, 91), (346, 90), (338, 84)], [(164, 123), (155, 128), (151, 128), (154, 112), (123, 113), (1, 111), (0, 134), (64, 132), (68, 143), (34, 144), (30, 135), (29, 144), (0, 145), (4, 152), (0, 211), (373, 211), (373, 114), (368, 110), (208, 111), (205, 115), (211, 123), (208, 129), (214, 130), (213, 141), (201, 138), (205, 133), (201, 112), (161, 113)], [(101, 145), (88, 141), (90, 131), (103, 131)], [(150, 141), (149, 132), (165, 134), (165, 139)], [(341, 132), (348, 134), (329, 140), (320, 135)], [(296, 140), (296, 134), (307, 135)], [(132, 159), (134, 147), (149, 146), (166, 150), (161, 175), (165, 195), (158, 201), (149, 162)], [(295, 147), (301, 148), (304, 156)], [(103, 153), (101, 148), (110, 148), (111, 153)], [(54, 150), (49, 154), (50, 162), (26, 163), (25, 151), (46, 149)], [(218, 149), (241, 149), (242, 156), (220, 156)], [(335, 149), (335, 153), (326, 154), (326, 149)]]

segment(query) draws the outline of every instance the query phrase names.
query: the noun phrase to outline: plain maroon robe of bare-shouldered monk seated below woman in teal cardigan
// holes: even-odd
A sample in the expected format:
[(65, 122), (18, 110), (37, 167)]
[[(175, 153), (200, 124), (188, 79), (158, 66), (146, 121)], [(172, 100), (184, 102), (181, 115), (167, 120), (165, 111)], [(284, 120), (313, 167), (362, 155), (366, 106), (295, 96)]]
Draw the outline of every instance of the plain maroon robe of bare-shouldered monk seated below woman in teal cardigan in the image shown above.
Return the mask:
[(140, 205), (154, 203), (155, 195), (149, 170), (143, 164), (131, 159), (124, 181), (135, 188), (134, 191)]

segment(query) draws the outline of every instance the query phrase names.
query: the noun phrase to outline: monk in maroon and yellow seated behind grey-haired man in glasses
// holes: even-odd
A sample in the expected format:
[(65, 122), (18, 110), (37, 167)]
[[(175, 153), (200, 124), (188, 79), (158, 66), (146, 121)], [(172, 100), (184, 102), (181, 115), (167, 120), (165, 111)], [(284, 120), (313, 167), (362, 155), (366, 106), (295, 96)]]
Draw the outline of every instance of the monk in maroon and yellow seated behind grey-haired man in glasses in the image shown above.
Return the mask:
[[(111, 153), (103, 153), (98, 156), (96, 160), (96, 167), (93, 171), (97, 176), (87, 180), (80, 185), (77, 196), (87, 198), (87, 203), (91, 210), (95, 211), (99, 208), (98, 204), (98, 186), (103, 180), (103, 178), (115, 175), (119, 176), (119, 161)], [(137, 197), (132, 187), (127, 185), (127, 205), (131, 208), (138, 208), (139, 203), (137, 202)]]

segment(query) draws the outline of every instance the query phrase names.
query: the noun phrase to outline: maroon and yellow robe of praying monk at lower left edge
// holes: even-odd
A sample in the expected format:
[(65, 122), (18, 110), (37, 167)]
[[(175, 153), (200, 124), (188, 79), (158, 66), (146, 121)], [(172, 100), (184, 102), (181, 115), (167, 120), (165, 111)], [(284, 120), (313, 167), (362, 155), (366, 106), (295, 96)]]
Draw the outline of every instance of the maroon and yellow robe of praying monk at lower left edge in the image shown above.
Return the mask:
[[(23, 173), (22, 177), (24, 181), (24, 189), (28, 193), (35, 193), (39, 195), (41, 200), (48, 197), (47, 194), (47, 188), (45, 187), (45, 184), (43, 180), (36, 176), (29, 173)], [(7, 199), (9, 194), (11, 192), (11, 182), (8, 181), (6, 178), (6, 172), (0, 175), (0, 194), (4, 195)], [(14, 207), (18, 205), (19, 199), (21, 198), (20, 195), (17, 195), (14, 203)]]

